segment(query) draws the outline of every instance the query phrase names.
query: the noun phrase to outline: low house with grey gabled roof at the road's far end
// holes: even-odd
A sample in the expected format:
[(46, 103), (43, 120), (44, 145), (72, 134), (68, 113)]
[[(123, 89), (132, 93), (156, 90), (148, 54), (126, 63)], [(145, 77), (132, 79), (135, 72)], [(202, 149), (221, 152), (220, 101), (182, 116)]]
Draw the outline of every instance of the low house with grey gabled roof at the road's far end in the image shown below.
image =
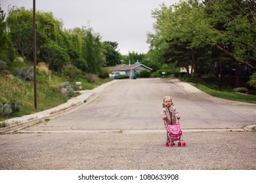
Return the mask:
[(127, 75), (130, 78), (133, 78), (135, 76), (135, 73), (139, 73), (143, 69), (148, 69), (148, 71), (153, 70), (150, 67), (143, 65), (139, 61), (137, 61), (135, 64), (121, 64), (114, 67), (108, 67), (108, 69), (112, 70), (112, 74), (110, 74), (110, 77), (114, 77), (117, 75)]

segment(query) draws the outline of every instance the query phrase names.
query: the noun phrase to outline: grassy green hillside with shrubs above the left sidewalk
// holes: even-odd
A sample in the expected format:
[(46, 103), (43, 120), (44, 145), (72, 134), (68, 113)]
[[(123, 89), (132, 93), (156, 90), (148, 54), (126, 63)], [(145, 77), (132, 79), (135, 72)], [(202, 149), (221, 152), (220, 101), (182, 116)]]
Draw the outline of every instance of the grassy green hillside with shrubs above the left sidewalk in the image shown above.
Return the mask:
[[(17, 63), (14, 63), (14, 65), (16, 65), (17, 69)], [(30, 63), (19, 63), (18, 65), (18, 68), (32, 67)], [(22, 65), (22, 67), (20, 65)], [(71, 97), (58, 91), (60, 84), (67, 81), (64, 75), (52, 73), (50, 79), (49, 75), (37, 72), (37, 109), (35, 109), (33, 80), (24, 80), (14, 76), (14, 74), (14, 67), (10, 68), (9, 71), (0, 73), (0, 102), (15, 103), (20, 100), (21, 110), (20, 112), (14, 112), (10, 116), (0, 116), (0, 121), (56, 107), (57, 105), (68, 101)], [(81, 74), (75, 78), (72, 84), (75, 85), (75, 82), (77, 81), (82, 83), (83, 90), (91, 90), (104, 82), (110, 81), (110, 79), (96, 78), (95, 81), (88, 82), (85, 75)], [(79, 94), (75, 93), (75, 95)]]

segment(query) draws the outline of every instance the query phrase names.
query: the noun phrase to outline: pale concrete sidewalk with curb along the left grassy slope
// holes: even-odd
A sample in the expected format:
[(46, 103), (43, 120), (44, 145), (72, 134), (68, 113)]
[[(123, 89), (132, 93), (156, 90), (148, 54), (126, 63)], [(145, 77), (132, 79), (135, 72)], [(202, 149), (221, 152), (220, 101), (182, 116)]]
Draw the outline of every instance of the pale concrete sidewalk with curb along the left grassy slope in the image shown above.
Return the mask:
[(102, 84), (93, 90), (81, 90), (79, 91), (81, 95), (71, 98), (66, 103), (58, 105), (57, 107), (43, 110), (41, 112), (36, 112), (34, 114), (5, 120), (3, 122), (5, 122), (8, 126), (0, 128), (0, 133), (17, 129), (17, 125), (20, 125), (20, 128), (23, 128), (28, 125), (36, 124), (41, 120), (45, 120), (53, 116), (62, 116), (66, 113), (73, 112), (74, 110), (82, 107), (83, 104), (87, 103), (88, 100), (91, 99), (94, 95), (103, 92), (106, 88), (112, 86), (113, 84), (116, 84), (116, 82), (118, 82), (118, 80), (112, 80), (111, 82)]

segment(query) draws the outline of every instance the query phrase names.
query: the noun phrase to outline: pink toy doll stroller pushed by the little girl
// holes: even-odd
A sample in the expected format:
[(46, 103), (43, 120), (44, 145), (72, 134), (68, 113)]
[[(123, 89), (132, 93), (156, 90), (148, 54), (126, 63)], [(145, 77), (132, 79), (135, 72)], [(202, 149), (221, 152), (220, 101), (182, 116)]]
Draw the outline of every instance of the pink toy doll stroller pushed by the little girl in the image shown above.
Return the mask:
[(186, 146), (186, 142), (183, 141), (180, 122), (178, 121), (177, 124), (167, 124), (164, 121), (164, 123), (167, 131), (165, 146), (173, 146), (175, 141), (179, 141), (178, 146)]

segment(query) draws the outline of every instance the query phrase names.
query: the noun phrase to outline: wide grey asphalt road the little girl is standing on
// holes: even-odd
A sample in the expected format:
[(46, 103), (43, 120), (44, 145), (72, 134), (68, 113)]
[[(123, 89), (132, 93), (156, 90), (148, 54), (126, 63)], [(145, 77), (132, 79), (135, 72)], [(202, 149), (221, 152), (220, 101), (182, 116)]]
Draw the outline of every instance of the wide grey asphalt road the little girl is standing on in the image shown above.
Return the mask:
[[(161, 102), (186, 147), (165, 147)], [(0, 169), (256, 169), (255, 105), (191, 99), (161, 79), (120, 80), (70, 114), (0, 135)]]

